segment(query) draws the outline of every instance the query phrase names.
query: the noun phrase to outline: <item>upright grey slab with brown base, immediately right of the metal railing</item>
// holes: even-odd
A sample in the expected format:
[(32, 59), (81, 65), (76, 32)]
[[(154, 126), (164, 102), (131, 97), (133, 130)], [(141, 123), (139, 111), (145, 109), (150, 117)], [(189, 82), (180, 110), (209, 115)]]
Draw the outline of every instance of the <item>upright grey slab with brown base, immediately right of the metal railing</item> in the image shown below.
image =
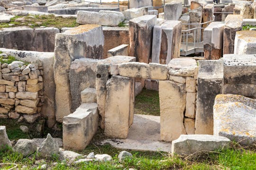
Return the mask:
[(224, 23), (212, 22), (203, 31), (205, 59), (219, 59), (222, 56)]

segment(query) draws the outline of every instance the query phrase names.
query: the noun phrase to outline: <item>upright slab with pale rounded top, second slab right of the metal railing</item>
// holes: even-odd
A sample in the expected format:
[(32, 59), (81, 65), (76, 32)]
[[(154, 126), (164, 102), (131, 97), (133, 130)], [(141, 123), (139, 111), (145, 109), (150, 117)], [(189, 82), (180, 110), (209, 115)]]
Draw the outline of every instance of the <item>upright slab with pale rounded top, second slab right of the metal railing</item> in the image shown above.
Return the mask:
[(242, 30), (243, 18), (240, 15), (228, 15), (223, 33), (223, 55), (234, 53), (236, 32)]

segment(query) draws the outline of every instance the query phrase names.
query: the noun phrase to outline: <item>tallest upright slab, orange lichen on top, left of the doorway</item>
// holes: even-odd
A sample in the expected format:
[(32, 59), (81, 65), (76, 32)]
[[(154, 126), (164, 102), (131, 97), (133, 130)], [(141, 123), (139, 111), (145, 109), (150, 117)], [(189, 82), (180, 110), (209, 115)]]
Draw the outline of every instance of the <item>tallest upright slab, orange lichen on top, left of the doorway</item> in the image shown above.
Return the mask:
[(72, 102), (69, 84), (71, 62), (79, 58), (101, 59), (103, 45), (104, 35), (102, 27), (98, 25), (82, 25), (56, 34), (54, 73), (55, 116), (58, 122), (62, 122), (63, 117), (71, 113)]

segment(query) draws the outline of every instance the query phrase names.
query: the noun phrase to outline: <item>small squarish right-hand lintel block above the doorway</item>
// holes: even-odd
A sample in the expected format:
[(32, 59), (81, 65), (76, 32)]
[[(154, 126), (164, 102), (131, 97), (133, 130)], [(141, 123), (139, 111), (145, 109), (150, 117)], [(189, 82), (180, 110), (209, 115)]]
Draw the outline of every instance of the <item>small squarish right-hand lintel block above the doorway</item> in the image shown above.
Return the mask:
[(166, 80), (168, 68), (167, 65), (149, 63), (150, 78), (156, 80)]

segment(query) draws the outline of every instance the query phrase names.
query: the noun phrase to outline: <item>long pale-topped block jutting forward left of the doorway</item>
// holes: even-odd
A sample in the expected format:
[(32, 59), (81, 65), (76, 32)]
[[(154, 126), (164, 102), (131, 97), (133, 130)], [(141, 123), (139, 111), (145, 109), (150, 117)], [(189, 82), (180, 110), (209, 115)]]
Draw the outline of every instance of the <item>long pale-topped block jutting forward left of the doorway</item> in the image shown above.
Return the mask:
[(82, 103), (75, 112), (65, 116), (63, 119), (64, 149), (84, 150), (98, 129), (98, 121), (97, 103)]

